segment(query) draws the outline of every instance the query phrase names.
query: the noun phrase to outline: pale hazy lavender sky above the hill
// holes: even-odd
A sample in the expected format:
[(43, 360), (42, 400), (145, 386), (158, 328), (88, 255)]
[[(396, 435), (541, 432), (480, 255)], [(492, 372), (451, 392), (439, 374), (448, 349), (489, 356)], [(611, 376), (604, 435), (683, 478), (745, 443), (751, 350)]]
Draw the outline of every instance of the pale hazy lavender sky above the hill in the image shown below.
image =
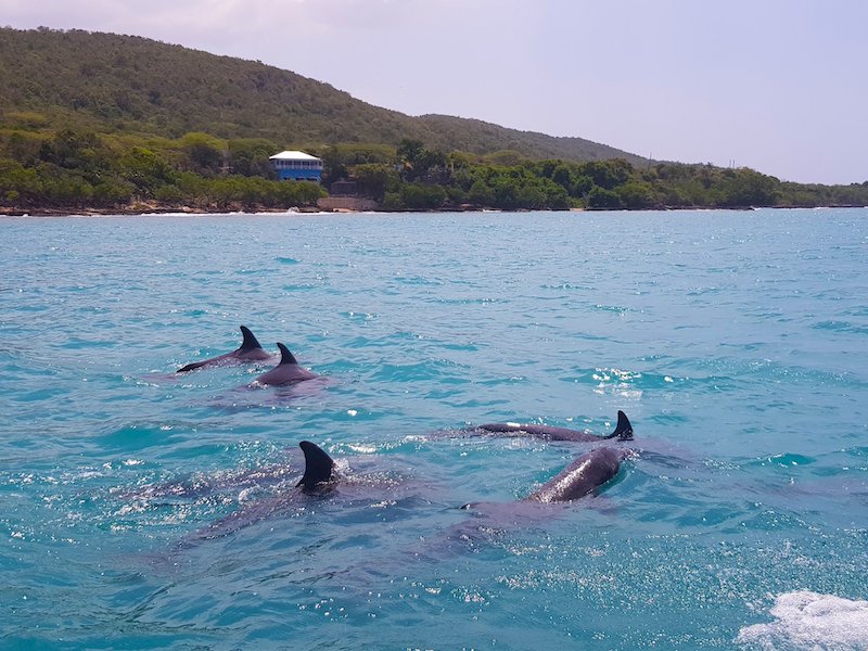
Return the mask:
[(410, 115), (868, 180), (864, 0), (0, 0), (0, 25), (259, 60)]

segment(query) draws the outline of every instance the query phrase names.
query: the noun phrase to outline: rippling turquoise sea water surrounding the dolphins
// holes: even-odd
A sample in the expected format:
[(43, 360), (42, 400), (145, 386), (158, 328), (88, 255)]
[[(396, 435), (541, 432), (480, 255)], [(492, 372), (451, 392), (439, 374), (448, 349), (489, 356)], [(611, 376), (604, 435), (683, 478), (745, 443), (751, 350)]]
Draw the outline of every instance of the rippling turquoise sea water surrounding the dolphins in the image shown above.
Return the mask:
[(2, 649), (868, 647), (868, 209), (0, 229)]

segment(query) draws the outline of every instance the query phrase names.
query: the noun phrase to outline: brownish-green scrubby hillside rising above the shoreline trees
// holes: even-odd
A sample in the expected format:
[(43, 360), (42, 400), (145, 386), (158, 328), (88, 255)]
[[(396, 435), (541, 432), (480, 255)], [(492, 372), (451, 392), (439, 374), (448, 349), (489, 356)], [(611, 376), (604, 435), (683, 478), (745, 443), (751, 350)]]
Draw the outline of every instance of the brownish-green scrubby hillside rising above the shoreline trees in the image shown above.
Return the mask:
[(443, 151), (582, 162), (639, 156), (474, 119), (411, 117), (259, 62), (133, 36), (0, 28), (0, 128), (75, 126), (176, 139), (205, 132), (293, 146), (422, 141)]

